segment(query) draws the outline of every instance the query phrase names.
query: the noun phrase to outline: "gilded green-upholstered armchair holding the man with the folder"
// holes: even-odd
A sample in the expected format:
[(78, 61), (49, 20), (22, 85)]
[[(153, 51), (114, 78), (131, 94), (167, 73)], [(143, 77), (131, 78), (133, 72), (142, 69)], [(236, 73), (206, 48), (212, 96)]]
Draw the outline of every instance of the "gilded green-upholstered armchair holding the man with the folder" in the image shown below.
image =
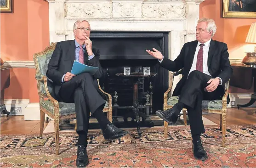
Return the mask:
[[(58, 102), (51, 96), (52, 88), (47, 86), (46, 71), (51, 55), (57, 43), (51, 43), (45, 50), (35, 53), (33, 56), (35, 65), (35, 78), (37, 80), (37, 91), (40, 98), (40, 134), (42, 136), (45, 122), (45, 114), (54, 120), (56, 154), (59, 154), (59, 122), (63, 119), (76, 118), (74, 103)], [(107, 112), (109, 121), (112, 121), (112, 97), (104, 92), (100, 85), (99, 89), (102, 95), (105, 96), (106, 104), (103, 112)], [(77, 125), (77, 124), (76, 124)]]

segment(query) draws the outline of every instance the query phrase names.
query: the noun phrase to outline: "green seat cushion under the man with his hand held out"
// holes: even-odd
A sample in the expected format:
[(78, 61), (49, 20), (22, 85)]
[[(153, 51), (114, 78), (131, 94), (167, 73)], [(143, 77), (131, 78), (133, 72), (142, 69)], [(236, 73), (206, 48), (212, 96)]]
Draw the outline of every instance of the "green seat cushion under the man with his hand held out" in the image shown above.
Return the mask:
[[(179, 100), (179, 96), (172, 96), (168, 99), (167, 105), (174, 106)], [(203, 101), (202, 108), (210, 110), (221, 110), (222, 109), (222, 100), (213, 100), (213, 101)]]

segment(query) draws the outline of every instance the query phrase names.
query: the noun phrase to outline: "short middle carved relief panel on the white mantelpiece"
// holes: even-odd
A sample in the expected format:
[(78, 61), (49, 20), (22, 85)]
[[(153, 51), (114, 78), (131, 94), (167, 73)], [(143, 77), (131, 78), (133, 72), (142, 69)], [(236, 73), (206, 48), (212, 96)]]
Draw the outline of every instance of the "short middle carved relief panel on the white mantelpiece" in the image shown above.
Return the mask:
[(113, 17), (141, 17), (142, 3), (113, 3)]

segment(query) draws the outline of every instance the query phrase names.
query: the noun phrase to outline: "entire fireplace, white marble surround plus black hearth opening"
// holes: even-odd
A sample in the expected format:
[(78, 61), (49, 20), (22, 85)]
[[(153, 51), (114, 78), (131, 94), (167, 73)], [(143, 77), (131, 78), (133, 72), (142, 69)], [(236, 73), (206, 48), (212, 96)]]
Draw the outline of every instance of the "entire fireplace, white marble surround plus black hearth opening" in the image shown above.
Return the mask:
[[(149, 56), (145, 50), (158, 47), (157, 49), (161, 50), (164, 56), (175, 60), (180, 54), (183, 44), (195, 40), (199, 4), (204, 0), (47, 1), (49, 2), (50, 44), (51, 42), (73, 40), (74, 22), (78, 19), (87, 20), (91, 25), (93, 44), (98, 45), (101, 55), (100, 62), (105, 69), (105, 78), (100, 79), (101, 86), (103, 87), (104, 83), (105, 90), (113, 95), (113, 91), (116, 89), (109, 90), (110, 86), (106, 80), (112, 80), (112, 77), (115, 77), (114, 73), (122, 72), (126, 65), (133, 65), (132, 71), (140, 71), (139, 67), (150, 66), (151, 71), (157, 73), (157, 76), (150, 79), (154, 91), (153, 101), (154, 103), (157, 99), (159, 101), (159, 104), (154, 104), (154, 110), (162, 109), (162, 94), (167, 90), (168, 73), (171, 72), (159, 67), (158, 61)], [(118, 42), (122, 38), (126, 41)], [(119, 46), (118, 48), (114, 47), (115, 50), (104, 46), (111, 40), (114, 40)], [(114, 43), (112, 44), (114, 45)], [(132, 45), (133, 48), (140, 46), (145, 49), (134, 50), (134, 52), (127, 51), (127, 47)], [(113, 53), (113, 51), (115, 52)], [(174, 78), (172, 90), (175, 89), (180, 78), (181, 75)], [(148, 90), (150, 81), (144, 79), (142, 90)], [(126, 85), (129, 83), (127, 82)], [(132, 88), (132, 85), (130, 86)], [(120, 95), (120, 90), (117, 92), (120, 106), (122, 105), (120, 103), (124, 103), (123, 105), (130, 103), (130, 101), (121, 100), (122, 97), (124, 99), (124, 96)], [(127, 99), (130, 98), (127, 96)]]

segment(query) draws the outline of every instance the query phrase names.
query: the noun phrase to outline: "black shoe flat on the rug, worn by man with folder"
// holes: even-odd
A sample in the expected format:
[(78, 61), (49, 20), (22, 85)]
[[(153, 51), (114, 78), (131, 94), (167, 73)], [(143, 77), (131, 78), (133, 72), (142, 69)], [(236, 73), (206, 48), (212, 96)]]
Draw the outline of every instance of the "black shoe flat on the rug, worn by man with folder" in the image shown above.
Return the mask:
[(89, 158), (87, 155), (85, 145), (78, 145), (77, 146), (77, 158), (76, 158), (76, 166), (78, 168), (84, 168), (89, 163)]

